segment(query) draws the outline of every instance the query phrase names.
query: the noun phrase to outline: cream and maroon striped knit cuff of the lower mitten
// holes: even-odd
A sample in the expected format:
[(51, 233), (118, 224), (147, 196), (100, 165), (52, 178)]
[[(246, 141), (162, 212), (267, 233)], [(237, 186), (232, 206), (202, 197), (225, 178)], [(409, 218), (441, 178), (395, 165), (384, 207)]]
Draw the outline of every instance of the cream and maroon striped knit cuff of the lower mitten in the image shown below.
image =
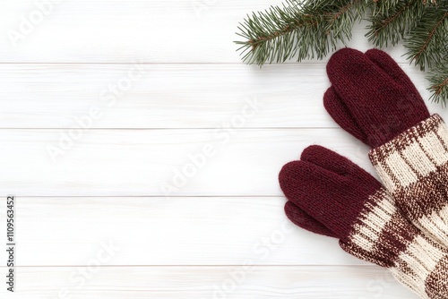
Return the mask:
[(448, 252), (412, 226), (392, 196), (380, 190), (369, 198), (342, 249), (389, 268), (422, 298), (448, 298)]

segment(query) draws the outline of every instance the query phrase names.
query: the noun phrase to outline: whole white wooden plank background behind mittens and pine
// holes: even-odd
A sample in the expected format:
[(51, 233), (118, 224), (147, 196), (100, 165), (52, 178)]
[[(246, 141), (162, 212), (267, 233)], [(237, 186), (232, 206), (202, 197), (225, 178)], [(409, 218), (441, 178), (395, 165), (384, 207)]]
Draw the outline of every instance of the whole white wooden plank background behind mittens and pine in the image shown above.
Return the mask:
[[(280, 1), (37, 3), (0, 1), (0, 223), (15, 194), (19, 265), (3, 298), (415, 297), (284, 216), (277, 175), (307, 145), (372, 168), (323, 109), (325, 61), (241, 63), (238, 21)], [(349, 46), (369, 48), (364, 34)]]

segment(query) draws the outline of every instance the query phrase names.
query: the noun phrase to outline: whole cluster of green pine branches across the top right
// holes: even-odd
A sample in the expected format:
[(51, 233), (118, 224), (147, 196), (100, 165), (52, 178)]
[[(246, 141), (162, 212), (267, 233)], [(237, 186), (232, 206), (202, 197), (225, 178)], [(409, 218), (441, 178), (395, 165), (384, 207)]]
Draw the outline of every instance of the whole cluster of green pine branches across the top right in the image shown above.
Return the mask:
[(448, 100), (448, 0), (286, 0), (240, 23), (237, 41), (247, 64), (322, 59), (366, 19), (375, 47), (403, 42), (410, 62), (428, 76), (431, 100)]

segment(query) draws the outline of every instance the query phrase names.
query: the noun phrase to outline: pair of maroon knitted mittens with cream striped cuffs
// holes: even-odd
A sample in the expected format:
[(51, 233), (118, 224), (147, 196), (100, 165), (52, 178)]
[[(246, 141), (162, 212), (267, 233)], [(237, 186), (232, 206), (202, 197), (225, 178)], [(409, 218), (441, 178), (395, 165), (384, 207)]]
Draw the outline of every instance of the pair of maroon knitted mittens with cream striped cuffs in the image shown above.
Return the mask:
[(347, 158), (318, 146), (280, 172), (297, 226), (340, 239), (346, 252), (391, 269), (422, 298), (448, 298), (448, 131), (390, 56), (335, 53), (324, 106), (370, 145), (384, 187)]

